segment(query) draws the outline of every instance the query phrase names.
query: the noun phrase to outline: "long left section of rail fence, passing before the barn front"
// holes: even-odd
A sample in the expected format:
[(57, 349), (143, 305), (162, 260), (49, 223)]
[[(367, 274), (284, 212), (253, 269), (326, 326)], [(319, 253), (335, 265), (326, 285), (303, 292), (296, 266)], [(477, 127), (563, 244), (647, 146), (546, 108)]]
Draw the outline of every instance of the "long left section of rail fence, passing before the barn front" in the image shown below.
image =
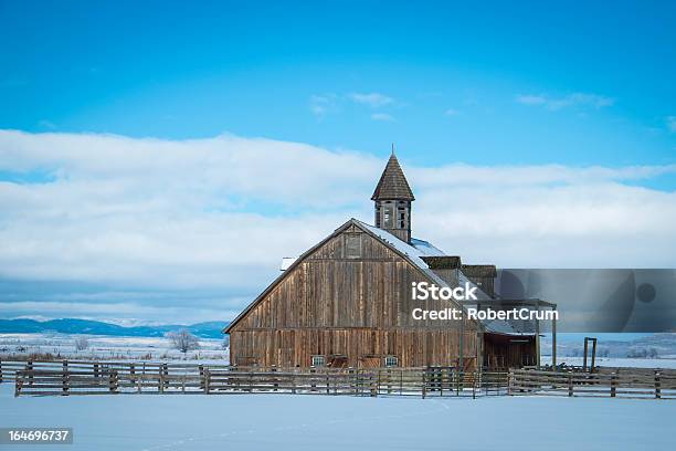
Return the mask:
[(261, 368), (105, 361), (2, 361), (21, 395), (316, 394), (479, 397), (507, 394), (507, 373), (429, 368)]

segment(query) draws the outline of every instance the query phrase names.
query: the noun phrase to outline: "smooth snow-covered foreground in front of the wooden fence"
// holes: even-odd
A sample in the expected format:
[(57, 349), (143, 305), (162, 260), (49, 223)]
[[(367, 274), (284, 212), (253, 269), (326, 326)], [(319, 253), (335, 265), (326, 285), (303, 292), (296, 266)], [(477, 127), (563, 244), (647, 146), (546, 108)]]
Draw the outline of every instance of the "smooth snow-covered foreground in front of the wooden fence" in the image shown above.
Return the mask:
[(72, 427), (73, 451), (666, 450), (676, 417), (674, 401), (610, 398), (12, 395), (0, 386), (2, 427)]

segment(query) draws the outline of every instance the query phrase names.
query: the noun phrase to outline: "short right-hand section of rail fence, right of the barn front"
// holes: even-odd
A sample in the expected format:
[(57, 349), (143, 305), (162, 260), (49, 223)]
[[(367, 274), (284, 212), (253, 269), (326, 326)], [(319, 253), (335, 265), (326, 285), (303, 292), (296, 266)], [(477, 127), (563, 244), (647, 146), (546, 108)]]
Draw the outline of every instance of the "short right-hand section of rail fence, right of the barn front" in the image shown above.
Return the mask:
[(676, 370), (622, 368), (590, 374), (517, 369), (509, 373), (509, 395), (676, 399)]

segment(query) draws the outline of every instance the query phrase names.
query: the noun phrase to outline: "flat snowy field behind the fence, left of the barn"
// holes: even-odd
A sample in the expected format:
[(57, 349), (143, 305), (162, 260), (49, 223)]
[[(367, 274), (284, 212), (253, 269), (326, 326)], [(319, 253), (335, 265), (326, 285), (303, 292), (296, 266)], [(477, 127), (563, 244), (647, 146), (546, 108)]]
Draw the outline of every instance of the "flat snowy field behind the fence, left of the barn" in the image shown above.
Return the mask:
[[(75, 339), (86, 337), (88, 348), (75, 349)], [(223, 340), (200, 338), (200, 348), (182, 354), (165, 337), (113, 337), (70, 334), (0, 334), (0, 356), (52, 354), (70, 359), (200, 359), (228, 363)]]

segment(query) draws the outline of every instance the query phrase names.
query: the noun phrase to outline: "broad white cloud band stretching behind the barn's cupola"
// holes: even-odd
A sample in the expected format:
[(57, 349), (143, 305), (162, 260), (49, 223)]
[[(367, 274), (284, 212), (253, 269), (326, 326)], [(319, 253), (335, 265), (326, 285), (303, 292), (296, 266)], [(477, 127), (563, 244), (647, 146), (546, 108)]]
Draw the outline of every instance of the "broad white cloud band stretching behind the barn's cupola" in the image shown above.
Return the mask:
[[(676, 165), (402, 164), (418, 199), (414, 234), (466, 262), (676, 265), (676, 193), (637, 186)], [(283, 256), (350, 217), (371, 221), (383, 166), (368, 154), (263, 138), (0, 132), (0, 170), (51, 175), (0, 182), (0, 277), (214, 287), (251, 300)], [(246, 301), (237, 303), (229, 311)]]

